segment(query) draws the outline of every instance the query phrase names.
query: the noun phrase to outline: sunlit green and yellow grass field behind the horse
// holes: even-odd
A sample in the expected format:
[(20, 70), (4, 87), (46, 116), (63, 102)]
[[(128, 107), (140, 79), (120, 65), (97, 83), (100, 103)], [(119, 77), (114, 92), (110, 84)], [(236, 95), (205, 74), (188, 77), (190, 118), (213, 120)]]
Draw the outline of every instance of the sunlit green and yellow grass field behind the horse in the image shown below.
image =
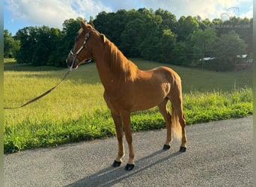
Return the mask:
[[(252, 71), (217, 73), (133, 59), (142, 70), (168, 66), (183, 81), (188, 124), (252, 114)], [(31, 67), (4, 59), (4, 107), (15, 107), (57, 84), (66, 69)], [(132, 114), (133, 131), (164, 128), (156, 108)], [(4, 153), (106, 138), (115, 127), (95, 64), (70, 73), (59, 87), (25, 108), (4, 110)]]

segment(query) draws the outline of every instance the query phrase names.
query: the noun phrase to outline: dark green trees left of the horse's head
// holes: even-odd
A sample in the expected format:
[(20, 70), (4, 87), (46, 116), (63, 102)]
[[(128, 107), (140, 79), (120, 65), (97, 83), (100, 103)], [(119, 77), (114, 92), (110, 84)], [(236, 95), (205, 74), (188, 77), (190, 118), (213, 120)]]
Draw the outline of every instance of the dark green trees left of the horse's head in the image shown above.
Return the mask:
[[(4, 57), (16, 58), (20, 64), (64, 67), (67, 54), (79, 31), (81, 20), (82, 18), (65, 20), (62, 31), (46, 25), (25, 27), (19, 29), (16, 35), (11, 37), (11, 34), (4, 30)], [(9, 43), (19, 43), (19, 48), (7, 49), (5, 40)]]

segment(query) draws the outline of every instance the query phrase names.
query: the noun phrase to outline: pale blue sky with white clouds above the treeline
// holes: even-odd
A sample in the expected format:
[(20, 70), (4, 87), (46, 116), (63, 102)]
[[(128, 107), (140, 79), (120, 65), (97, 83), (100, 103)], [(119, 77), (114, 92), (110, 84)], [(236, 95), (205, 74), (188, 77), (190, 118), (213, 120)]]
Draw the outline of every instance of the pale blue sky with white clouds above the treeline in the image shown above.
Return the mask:
[(62, 29), (65, 19), (90, 16), (106, 11), (146, 7), (168, 10), (180, 16), (201, 16), (202, 19), (228, 19), (227, 16), (252, 18), (253, 0), (4, 0), (4, 29), (13, 35), (21, 28), (47, 25)]

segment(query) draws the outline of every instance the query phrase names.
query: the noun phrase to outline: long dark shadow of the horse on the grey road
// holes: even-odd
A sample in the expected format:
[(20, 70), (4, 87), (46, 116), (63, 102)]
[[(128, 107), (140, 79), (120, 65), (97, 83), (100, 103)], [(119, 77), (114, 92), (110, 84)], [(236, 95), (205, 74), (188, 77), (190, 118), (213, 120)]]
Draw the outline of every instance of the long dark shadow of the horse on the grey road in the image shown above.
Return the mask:
[(153, 165), (158, 165), (168, 159), (171, 159), (174, 156), (181, 154), (178, 151), (171, 153), (170, 155), (161, 159), (154, 159), (156, 160), (155, 162), (150, 162), (150, 159), (153, 159), (154, 156), (157, 156), (160, 153), (164, 153), (165, 151), (166, 150), (158, 150), (149, 156), (138, 159), (138, 161), (135, 163), (135, 168), (132, 171), (125, 171), (124, 167), (113, 168), (112, 166), (109, 166), (108, 168), (104, 168), (103, 170), (98, 171), (96, 174), (92, 174), (91, 176), (85, 177), (82, 180), (78, 180), (75, 183), (69, 184), (67, 186), (114, 186), (115, 184), (120, 183), (122, 180), (132, 177), (133, 175), (138, 174), (139, 172), (144, 171)]

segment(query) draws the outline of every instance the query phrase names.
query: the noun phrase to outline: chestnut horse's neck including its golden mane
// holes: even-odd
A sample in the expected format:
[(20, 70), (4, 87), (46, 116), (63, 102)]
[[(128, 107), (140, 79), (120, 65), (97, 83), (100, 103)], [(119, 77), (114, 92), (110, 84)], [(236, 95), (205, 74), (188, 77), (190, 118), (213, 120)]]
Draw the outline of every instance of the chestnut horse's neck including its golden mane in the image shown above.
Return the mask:
[(95, 58), (104, 88), (114, 86), (118, 89), (118, 85), (135, 78), (138, 67), (130, 62), (109, 40), (106, 40), (105, 46), (97, 52)]

